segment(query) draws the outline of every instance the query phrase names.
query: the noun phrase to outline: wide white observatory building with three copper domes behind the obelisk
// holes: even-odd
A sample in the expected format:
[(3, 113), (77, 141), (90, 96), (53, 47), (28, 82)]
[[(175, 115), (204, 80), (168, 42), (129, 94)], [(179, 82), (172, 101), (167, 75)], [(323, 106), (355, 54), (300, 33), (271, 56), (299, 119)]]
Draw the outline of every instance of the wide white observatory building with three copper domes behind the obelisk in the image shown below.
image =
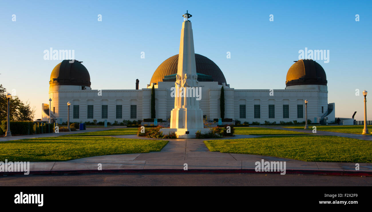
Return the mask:
[[(203, 115), (208, 120), (220, 118), (221, 87), (225, 91), (225, 117), (234, 120), (264, 123), (264, 121), (305, 121), (305, 99), (308, 119), (312, 123), (334, 121), (334, 103), (328, 104), (327, 78), (323, 67), (313, 60), (299, 60), (289, 68), (285, 89), (234, 89), (227, 84), (221, 69), (209, 58), (195, 54), (196, 73)], [(171, 88), (176, 81), (178, 54), (155, 70), (146, 88), (133, 90), (93, 90), (86, 67), (77, 60), (63, 60), (54, 67), (49, 81), (51, 118), (57, 123), (150, 118), (151, 88), (155, 88), (156, 118), (168, 120), (174, 108)], [(284, 72), (283, 72), (284, 73)], [(134, 79), (133, 79), (134, 81)], [(93, 82), (94, 86), (94, 82)], [(42, 120), (49, 118), (49, 105), (42, 104)]]

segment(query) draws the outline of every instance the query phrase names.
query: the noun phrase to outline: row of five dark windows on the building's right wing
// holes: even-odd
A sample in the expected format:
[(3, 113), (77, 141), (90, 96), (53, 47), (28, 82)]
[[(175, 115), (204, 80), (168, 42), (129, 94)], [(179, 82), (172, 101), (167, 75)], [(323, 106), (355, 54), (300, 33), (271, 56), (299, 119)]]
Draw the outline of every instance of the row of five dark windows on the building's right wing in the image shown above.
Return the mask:
[[(239, 118), (246, 118), (246, 105), (239, 105)], [(254, 118), (261, 118), (261, 105), (254, 105)], [(269, 105), (269, 118), (275, 118), (275, 105)], [(283, 118), (289, 118), (289, 105), (283, 105)], [(297, 118), (304, 118), (304, 105), (297, 105)]]

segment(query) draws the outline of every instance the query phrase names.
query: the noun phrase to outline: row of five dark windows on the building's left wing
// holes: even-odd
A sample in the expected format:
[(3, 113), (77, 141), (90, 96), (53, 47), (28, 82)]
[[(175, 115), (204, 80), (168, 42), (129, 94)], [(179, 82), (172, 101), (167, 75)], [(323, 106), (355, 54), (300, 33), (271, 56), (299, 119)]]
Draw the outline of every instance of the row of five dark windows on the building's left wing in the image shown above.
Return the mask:
[[(79, 105), (74, 105), (74, 118), (79, 118), (79, 109)], [(87, 106), (87, 115), (87, 118), (94, 118), (93, 105)], [(101, 105), (101, 118), (108, 118), (108, 105)], [(123, 118), (123, 105), (116, 105), (116, 118)], [(131, 118), (137, 118), (137, 105), (131, 105)]]

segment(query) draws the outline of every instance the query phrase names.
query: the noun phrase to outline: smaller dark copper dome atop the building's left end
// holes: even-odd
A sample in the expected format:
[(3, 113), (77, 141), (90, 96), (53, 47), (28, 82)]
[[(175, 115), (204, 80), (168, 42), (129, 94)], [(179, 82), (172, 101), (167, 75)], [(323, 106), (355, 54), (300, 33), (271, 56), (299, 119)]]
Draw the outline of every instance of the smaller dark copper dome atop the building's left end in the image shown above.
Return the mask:
[(90, 87), (90, 75), (82, 61), (63, 60), (54, 67), (50, 75), (49, 86), (54, 85), (80, 85)]

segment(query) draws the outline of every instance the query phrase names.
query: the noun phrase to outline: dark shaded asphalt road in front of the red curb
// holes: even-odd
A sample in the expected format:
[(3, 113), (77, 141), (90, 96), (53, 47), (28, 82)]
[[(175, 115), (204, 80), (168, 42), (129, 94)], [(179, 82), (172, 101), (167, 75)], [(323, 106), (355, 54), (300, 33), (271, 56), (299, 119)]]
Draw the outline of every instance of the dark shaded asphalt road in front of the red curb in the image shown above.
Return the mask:
[(372, 177), (294, 174), (67, 174), (0, 176), (0, 186), (372, 186)]

